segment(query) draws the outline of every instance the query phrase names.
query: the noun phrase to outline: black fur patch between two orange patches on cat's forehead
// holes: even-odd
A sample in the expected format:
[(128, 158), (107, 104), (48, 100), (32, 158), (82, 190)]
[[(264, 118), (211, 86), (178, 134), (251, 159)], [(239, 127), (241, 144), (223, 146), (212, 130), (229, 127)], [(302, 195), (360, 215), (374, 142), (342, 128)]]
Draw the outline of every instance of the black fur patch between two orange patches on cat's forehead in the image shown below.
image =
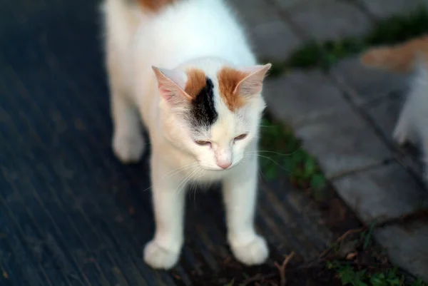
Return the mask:
[(213, 88), (213, 81), (207, 77), (205, 87), (191, 101), (189, 119), (195, 128), (210, 127), (218, 118), (214, 107)]

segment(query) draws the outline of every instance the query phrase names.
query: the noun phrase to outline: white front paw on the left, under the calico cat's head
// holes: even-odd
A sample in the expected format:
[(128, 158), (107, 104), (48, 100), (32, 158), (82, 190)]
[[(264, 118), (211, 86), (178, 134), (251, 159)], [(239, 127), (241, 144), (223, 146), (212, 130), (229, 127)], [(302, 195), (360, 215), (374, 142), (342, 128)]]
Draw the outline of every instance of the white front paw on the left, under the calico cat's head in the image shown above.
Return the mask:
[(180, 252), (167, 250), (152, 240), (144, 247), (143, 257), (144, 262), (155, 269), (170, 270), (178, 262)]

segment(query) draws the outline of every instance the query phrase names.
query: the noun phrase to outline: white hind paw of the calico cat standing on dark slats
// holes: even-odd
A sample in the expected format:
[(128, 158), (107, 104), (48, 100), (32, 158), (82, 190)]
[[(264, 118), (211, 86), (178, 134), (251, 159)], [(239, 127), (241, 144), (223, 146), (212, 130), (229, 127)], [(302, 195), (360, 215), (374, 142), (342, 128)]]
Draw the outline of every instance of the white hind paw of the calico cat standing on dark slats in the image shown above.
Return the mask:
[(114, 134), (113, 152), (122, 163), (136, 163), (141, 159), (146, 145), (140, 133), (132, 136)]

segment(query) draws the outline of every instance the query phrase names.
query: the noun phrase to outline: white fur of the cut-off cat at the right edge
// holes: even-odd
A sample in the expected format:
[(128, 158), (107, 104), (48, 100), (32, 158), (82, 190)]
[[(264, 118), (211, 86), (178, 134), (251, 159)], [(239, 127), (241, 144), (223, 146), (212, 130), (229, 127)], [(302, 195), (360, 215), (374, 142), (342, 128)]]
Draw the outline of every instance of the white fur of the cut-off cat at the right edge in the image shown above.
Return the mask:
[[(428, 66), (417, 58), (416, 73), (410, 91), (394, 128), (393, 137), (400, 145), (421, 143), (424, 162), (428, 163)], [(428, 183), (427, 168), (425, 180)]]

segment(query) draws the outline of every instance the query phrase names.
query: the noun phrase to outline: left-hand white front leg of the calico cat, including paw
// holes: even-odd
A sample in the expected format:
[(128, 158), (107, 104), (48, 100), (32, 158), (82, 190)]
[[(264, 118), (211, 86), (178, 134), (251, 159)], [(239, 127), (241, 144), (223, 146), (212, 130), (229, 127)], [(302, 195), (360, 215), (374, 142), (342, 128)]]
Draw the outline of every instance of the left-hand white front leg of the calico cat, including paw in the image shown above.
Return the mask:
[(153, 240), (144, 247), (144, 261), (153, 268), (168, 270), (180, 257), (183, 246), (183, 216), (185, 204), (184, 178), (168, 176), (169, 168), (161, 160), (151, 160), (153, 209), (156, 230)]

